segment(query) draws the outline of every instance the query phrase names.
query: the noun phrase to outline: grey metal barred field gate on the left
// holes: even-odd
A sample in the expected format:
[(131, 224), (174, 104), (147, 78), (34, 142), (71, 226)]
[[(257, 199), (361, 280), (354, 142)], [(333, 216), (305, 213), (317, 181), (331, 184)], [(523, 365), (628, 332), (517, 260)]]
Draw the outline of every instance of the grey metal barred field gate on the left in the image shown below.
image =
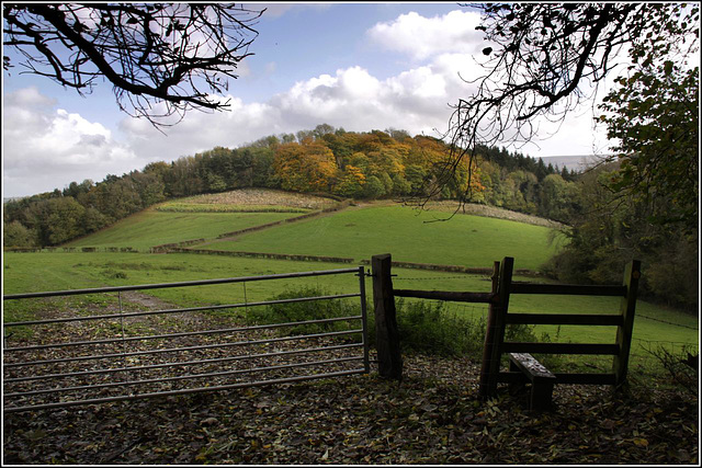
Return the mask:
[[(185, 287), (185, 286), (200, 286), (200, 285), (226, 284), (226, 283), (246, 284), (246, 282), (253, 282), (253, 281), (309, 277), (309, 276), (321, 276), (321, 275), (332, 275), (332, 274), (343, 274), (343, 273), (356, 273), (356, 276), (359, 277), (359, 290), (360, 290), (359, 293), (306, 297), (306, 298), (280, 299), (280, 300), (265, 300), (265, 301), (259, 301), (259, 303), (247, 303), (245, 297), (245, 304), (189, 307), (189, 308), (181, 308), (181, 309), (167, 309), (167, 310), (122, 313), (122, 305), (121, 305), (122, 298), (120, 296), (120, 292), (123, 292), (123, 290), (140, 290), (140, 289), (155, 289), (155, 288), (166, 288), (166, 287)], [(360, 266), (358, 269), (286, 273), (286, 274), (264, 275), (264, 276), (247, 276), (247, 277), (238, 277), (238, 278), (205, 279), (205, 281), (151, 284), (151, 285), (140, 285), (140, 286), (118, 286), (118, 287), (91, 288), (91, 289), (73, 289), (73, 290), (65, 290), (65, 292), (43, 292), (43, 293), (5, 295), (3, 296), (3, 300), (117, 292), (118, 300), (120, 300), (120, 311), (121, 311), (121, 313), (110, 313), (110, 315), (101, 315), (101, 316), (70, 317), (70, 318), (59, 318), (59, 319), (52, 319), (52, 320), (27, 320), (27, 321), (8, 322), (8, 323), (3, 323), (5, 328), (7, 327), (42, 326), (42, 324), (52, 324), (52, 323), (66, 323), (66, 322), (89, 321), (89, 320), (94, 321), (94, 320), (105, 320), (105, 319), (120, 319), (121, 321), (123, 321), (125, 317), (194, 312), (194, 311), (203, 311), (203, 310), (233, 309), (233, 308), (240, 308), (240, 307), (248, 308), (248, 307), (256, 307), (256, 306), (302, 303), (302, 301), (309, 301), (309, 300), (331, 300), (331, 299), (353, 298), (353, 297), (359, 297), (361, 299), (360, 316), (335, 317), (335, 318), (328, 318), (328, 319), (313, 319), (313, 320), (305, 320), (305, 321), (298, 321), (298, 322), (224, 328), (224, 329), (192, 331), (192, 332), (189, 331), (189, 332), (177, 332), (177, 333), (162, 333), (162, 334), (140, 335), (140, 336), (125, 336), (124, 329), (123, 329), (122, 338), (116, 338), (116, 339), (102, 339), (102, 340), (94, 340), (94, 341), (69, 341), (69, 342), (61, 342), (61, 343), (47, 343), (47, 344), (25, 345), (25, 346), (15, 346), (15, 347), (7, 347), (3, 345), (3, 364), (4, 364), (4, 367), (8, 369), (20, 369), (20, 368), (27, 369), (31, 366), (41, 366), (41, 365), (47, 365), (47, 364), (63, 365), (67, 363), (79, 363), (79, 362), (114, 359), (114, 358), (123, 358), (125, 359), (125, 364), (126, 364), (126, 357), (155, 356), (155, 355), (165, 355), (167, 353), (176, 354), (176, 353), (188, 353), (192, 351), (205, 351), (205, 350), (225, 350), (228, 347), (244, 346), (247, 344), (265, 345), (269, 343), (282, 343), (282, 342), (292, 343), (295, 341), (302, 341), (307, 339), (324, 341), (325, 339), (343, 336), (343, 335), (352, 335), (352, 334), (359, 334), (359, 333), (361, 334), (362, 341), (360, 343), (351, 343), (351, 344), (326, 345), (320, 347), (306, 347), (306, 349), (292, 349), (292, 350), (275, 351), (270, 353), (252, 353), (252, 354), (244, 354), (244, 355), (235, 355), (235, 356), (226, 356), (226, 357), (216, 357), (216, 358), (166, 362), (166, 363), (158, 363), (158, 364), (123, 366), (123, 367), (116, 367), (116, 368), (98, 368), (98, 369), (83, 368), (82, 370), (79, 370), (79, 372), (64, 372), (64, 373), (29, 375), (29, 376), (25, 375), (25, 376), (19, 376), (19, 377), (3, 378), (4, 384), (37, 383), (37, 381), (50, 380), (50, 379), (63, 380), (70, 377), (87, 377), (87, 376), (99, 376), (99, 375), (109, 376), (109, 375), (114, 375), (116, 373), (134, 373), (134, 372), (150, 370), (150, 369), (166, 369), (166, 368), (173, 368), (173, 367), (189, 367), (189, 366), (197, 366), (197, 365), (218, 364), (218, 363), (233, 363), (237, 361), (254, 359), (254, 358), (272, 358), (272, 357), (279, 357), (279, 356), (304, 355), (304, 354), (319, 353), (319, 352), (326, 352), (326, 351), (343, 351), (343, 350), (358, 349), (358, 347), (363, 349), (362, 356), (339, 357), (337, 355), (333, 358), (326, 358), (326, 359), (322, 358), (322, 359), (316, 359), (310, 362), (297, 362), (297, 363), (288, 363), (288, 364), (257, 366), (252, 368), (236, 368), (236, 369), (228, 369), (228, 370), (220, 370), (220, 372), (190, 373), (190, 374), (176, 375), (176, 376), (165, 375), (165, 376), (152, 377), (152, 378), (123, 379), (121, 381), (106, 381), (106, 383), (97, 381), (91, 385), (81, 384), (81, 385), (73, 385), (68, 387), (59, 386), (59, 387), (53, 387), (53, 388), (29, 389), (23, 391), (4, 391), (3, 399), (5, 399), (5, 404), (7, 404), (7, 399), (9, 398), (27, 398), (27, 397), (41, 396), (41, 395), (47, 395), (47, 393), (66, 393), (66, 392), (81, 391), (81, 390), (88, 390), (88, 389), (92, 390), (92, 389), (106, 389), (106, 388), (114, 388), (114, 387), (134, 387), (134, 386), (144, 386), (148, 384), (160, 384), (160, 383), (167, 383), (167, 381), (169, 383), (188, 381), (188, 380), (195, 380), (195, 379), (202, 379), (202, 378), (234, 376), (234, 375), (241, 375), (241, 374), (253, 374), (253, 373), (281, 370), (281, 369), (304, 368), (304, 367), (312, 367), (312, 366), (317, 367), (317, 366), (338, 364), (338, 363), (350, 363), (352, 361), (363, 361), (363, 368), (327, 372), (322, 374), (310, 374), (310, 375), (302, 375), (302, 376), (295, 375), (295, 376), (290, 376), (284, 378), (273, 378), (268, 380), (254, 380), (254, 381), (244, 381), (244, 383), (235, 383), (235, 384), (225, 383), (225, 385), (208, 386), (208, 387), (183, 388), (183, 389), (176, 389), (176, 390), (154, 391), (154, 392), (147, 391), (145, 393), (136, 393), (136, 395), (131, 393), (131, 395), (109, 396), (109, 397), (101, 397), (101, 398), (88, 398), (88, 399), (75, 400), (75, 401), (57, 401), (57, 402), (48, 402), (48, 403), (39, 403), (39, 404), (23, 404), (19, 407), (9, 406), (4, 408), (4, 411), (19, 412), (19, 411), (29, 411), (29, 410), (38, 410), (38, 409), (53, 409), (53, 408), (61, 408), (61, 407), (72, 407), (77, 404), (93, 404), (93, 403), (101, 403), (101, 402), (123, 401), (123, 400), (129, 400), (129, 399), (151, 398), (156, 396), (170, 396), (170, 395), (194, 393), (194, 392), (202, 392), (202, 391), (216, 391), (216, 390), (223, 390), (223, 389), (235, 389), (235, 388), (244, 388), (244, 387), (252, 387), (252, 386), (261, 386), (261, 385), (275, 385), (275, 384), (283, 384), (283, 383), (308, 380), (314, 378), (326, 378), (326, 377), (336, 377), (336, 376), (343, 376), (343, 375), (367, 373), (370, 372), (370, 361), (369, 361), (369, 341), (367, 341), (367, 321), (366, 321), (367, 315), (366, 315), (366, 305), (365, 305), (364, 277), (365, 277), (364, 269), (363, 266)], [(36, 351), (50, 350), (50, 349), (69, 349), (69, 347), (77, 349), (80, 346), (104, 345), (104, 344), (111, 344), (111, 343), (123, 343), (123, 344), (126, 344), (127, 342), (144, 343), (144, 342), (154, 341), (154, 340), (179, 339), (184, 336), (212, 335), (212, 334), (236, 333), (236, 332), (249, 332), (249, 331), (257, 331), (257, 330), (273, 330), (273, 329), (281, 329), (284, 327), (305, 326), (305, 324), (315, 324), (315, 323), (331, 323), (331, 322), (352, 321), (352, 320), (360, 320), (362, 322), (362, 327), (360, 329), (351, 329), (351, 330), (343, 330), (343, 331), (268, 338), (263, 340), (234, 341), (234, 342), (193, 345), (193, 346), (156, 349), (156, 350), (147, 350), (147, 351), (126, 352), (126, 349), (123, 347), (123, 351), (121, 353), (93, 354), (93, 355), (86, 355), (86, 356), (73, 355), (71, 357), (64, 357), (64, 358), (50, 358), (50, 359), (35, 358), (33, 361), (4, 363), (5, 353), (36, 352)], [(22, 404), (21, 402), (18, 402), (18, 403)]]

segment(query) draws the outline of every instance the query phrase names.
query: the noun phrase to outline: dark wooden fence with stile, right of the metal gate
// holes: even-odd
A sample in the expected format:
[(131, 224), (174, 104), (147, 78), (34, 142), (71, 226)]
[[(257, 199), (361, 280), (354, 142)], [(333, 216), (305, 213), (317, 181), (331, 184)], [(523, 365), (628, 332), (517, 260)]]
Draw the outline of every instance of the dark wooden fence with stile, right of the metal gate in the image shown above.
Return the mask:
[[(462, 303), (483, 303), (489, 305), (488, 322), (485, 334), (483, 365), (480, 370), (479, 393), (483, 398), (495, 395), (498, 383), (525, 381), (530, 377), (526, 370), (501, 372), (502, 354), (598, 354), (613, 356), (612, 372), (600, 374), (555, 373), (555, 384), (592, 384), (621, 386), (626, 381), (629, 354), (631, 350), (636, 293), (641, 277), (641, 262), (634, 260), (624, 272), (621, 285), (567, 285), (519, 283), (512, 281), (514, 259), (505, 258), (495, 262), (492, 287), (489, 293), (463, 293), (440, 290), (394, 289), (392, 284), (392, 260), (389, 254), (373, 258), (373, 293), (375, 303), (376, 341), (378, 350), (378, 369), (382, 376), (397, 378), (401, 376), (401, 356), (394, 298), (414, 297), (424, 299), (451, 300)], [(619, 313), (510, 313), (509, 300), (514, 294), (539, 295), (586, 295), (621, 297)], [(378, 323), (381, 326), (378, 327)], [(567, 324), (567, 326), (610, 326), (616, 327), (614, 343), (526, 343), (505, 341), (508, 324)], [(394, 327), (394, 330), (393, 330)], [(533, 378), (533, 376), (531, 376)], [(533, 383), (533, 379), (532, 379)], [(548, 396), (550, 398), (550, 396)]]

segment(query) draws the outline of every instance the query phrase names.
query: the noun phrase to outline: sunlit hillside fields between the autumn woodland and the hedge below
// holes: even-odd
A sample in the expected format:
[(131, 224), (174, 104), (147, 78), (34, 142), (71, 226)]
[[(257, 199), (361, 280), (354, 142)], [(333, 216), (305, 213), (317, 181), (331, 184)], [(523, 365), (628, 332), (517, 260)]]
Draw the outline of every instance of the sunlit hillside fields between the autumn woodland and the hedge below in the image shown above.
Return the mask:
[[(471, 267), (490, 267), (494, 260), (514, 254), (519, 258), (518, 266), (530, 270), (536, 270), (556, 251), (556, 246), (550, 243), (551, 230), (545, 220), (539, 222), (537, 218), (507, 210), (492, 215), (521, 217), (530, 224), (464, 214), (448, 219), (451, 204), (434, 204), (429, 210), (419, 210), (396, 203), (364, 203), (325, 216), (305, 216), (299, 222), (270, 226), (319, 213), (332, 203), (336, 202), (329, 198), (259, 189), (189, 197), (132, 215), (66, 247), (132, 247), (147, 251), (159, 244), (200, 239), (189, 242), (189, 247), (343, 256), (355, 261), (393, 252), (398, 261)], [(234, 239), (219, 239), (227, 232), (256, 226), (270, 227)]]

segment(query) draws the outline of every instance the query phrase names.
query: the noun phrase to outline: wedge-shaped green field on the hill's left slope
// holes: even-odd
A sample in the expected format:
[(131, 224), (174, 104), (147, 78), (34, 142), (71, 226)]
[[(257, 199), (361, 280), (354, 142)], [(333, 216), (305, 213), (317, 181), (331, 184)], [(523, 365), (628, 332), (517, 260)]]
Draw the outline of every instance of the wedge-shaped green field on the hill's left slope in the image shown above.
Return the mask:
[(295, 213), (166, 213), (146, 209), (66, 247), (148, 249), (218, 235), (299, 216)]

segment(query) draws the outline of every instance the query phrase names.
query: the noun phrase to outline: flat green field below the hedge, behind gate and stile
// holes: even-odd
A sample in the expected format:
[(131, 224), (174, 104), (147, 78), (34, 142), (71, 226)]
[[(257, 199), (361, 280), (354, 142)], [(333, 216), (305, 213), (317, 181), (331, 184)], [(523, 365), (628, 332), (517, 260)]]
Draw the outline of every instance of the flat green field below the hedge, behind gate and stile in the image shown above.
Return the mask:
[[(61, 290), (100, 286), (171, 283), (193, 279), (270, 275), (301, 271), (346, 269), (348, 264), (290, 262), (260, 259), (231, 259), (195, 254), (146, 253), (5, 253), (3, 259), (4, 294), (37, 290)], [(428, 272), (395, 269), (396, 288), (488, 292), (490, 282), (478, 275)], [(516, 277), (517, 281), (529, 281)], [(288, 288), (317, 287), (333, 293), (358, 292), (358, 278), (351, 274), (297, 279), (248, 282), (246, 300), (265, 300)], [(372, 297), (370, 279), (366, 279), (369, 298)], [(180, 306), (237, 304), (245, 300), (242, 284), (199, 286), (191, 288), (152, 289), (148, 292), (163, 300)], [(35, 299), (32, 299), (35, 300)], [(36, 299), (38, 301), (38, 299)], [(356, 299), (353, 299), (356, 300)], [(5, 320), (26, 320), (38, 313), (39, 306), (26, 306), (22, 301), (4, 304)], [(36, 303), (39, 304), (39, 303)], [(487, 315), (487, 306), (480, 304), (448, 303), (446, 313), (479, 319)], [(591, 296), (536, 296), (513, 295), (511, 312), (580, 312), (618, 313), (619, 299)], [(237, 313), (240, 313), (239, 309)], [(639, 300), (634, 321), (634, 363), (647, 357), (645, 349), (664, 344), (679, 349), (683, 343), (698, 346), (698, 318), (693, 315), (661, 308)], [(552, 341), (611, 343), (613, 327), (561, 327), (540, 326), (535, 333), (547, 333)], [(581, 356), (577, 357), (582, 359)], [(611, 358), (610, 358), (611, 359)], [(642, 361), (643, 359), (643, 361)], [(587, 358), (586, 358), (587, 361)], [(590, 359), (591, 361), (591, 359)]]

